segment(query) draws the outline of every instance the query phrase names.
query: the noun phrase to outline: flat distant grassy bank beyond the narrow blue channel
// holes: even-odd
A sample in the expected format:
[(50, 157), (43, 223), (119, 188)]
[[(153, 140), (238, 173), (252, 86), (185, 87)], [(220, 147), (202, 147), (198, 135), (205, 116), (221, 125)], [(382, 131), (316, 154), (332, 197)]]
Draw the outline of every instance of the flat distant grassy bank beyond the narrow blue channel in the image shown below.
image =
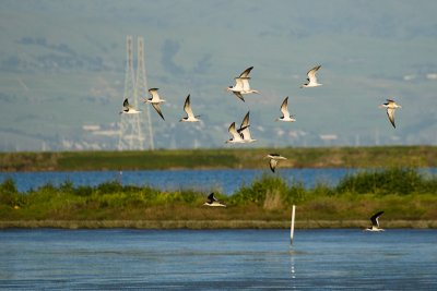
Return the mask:
[(436, 146), (179, 149), (0, 154), (0, 171), (265, 168), (269, 153), (283, 168), (437, 167)]

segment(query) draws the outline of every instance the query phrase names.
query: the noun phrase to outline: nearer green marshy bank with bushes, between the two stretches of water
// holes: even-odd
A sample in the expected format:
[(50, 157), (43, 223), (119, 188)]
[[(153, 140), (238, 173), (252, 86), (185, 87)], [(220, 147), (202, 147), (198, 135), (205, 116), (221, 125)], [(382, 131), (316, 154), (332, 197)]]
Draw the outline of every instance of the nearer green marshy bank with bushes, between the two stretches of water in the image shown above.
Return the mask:
[(383, 210), (382, 228), (437, 228), (437, 177), (411, 168), (366, 170), (336, 185), (287, 184), (265, 174), (233, 195), (216, 196), (226, 208), (203, 206), (209, 193), (107, 182), (74, 186), (66, 181), (20, 193), (0, 184), (0, 227), (57, 228), (286, 228), (297, 206), (298, 228), (365, 228)]

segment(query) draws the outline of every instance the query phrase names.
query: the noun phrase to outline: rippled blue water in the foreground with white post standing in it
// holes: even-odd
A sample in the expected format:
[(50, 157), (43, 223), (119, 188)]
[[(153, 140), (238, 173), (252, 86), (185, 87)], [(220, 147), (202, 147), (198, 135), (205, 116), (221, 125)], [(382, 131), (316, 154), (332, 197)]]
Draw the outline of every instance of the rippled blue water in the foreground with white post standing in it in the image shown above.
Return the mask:
[(437, 290), (437, 230), (2, 230), (0, 289)]

